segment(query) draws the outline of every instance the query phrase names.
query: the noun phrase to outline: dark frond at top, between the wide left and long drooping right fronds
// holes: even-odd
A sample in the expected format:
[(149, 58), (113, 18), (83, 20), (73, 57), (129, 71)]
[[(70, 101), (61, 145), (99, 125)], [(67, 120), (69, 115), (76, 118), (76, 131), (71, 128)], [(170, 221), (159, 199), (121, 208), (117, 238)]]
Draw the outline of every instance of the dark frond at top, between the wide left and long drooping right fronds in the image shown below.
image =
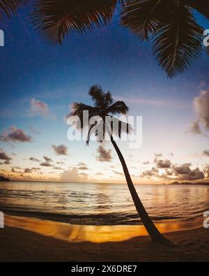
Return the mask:
[(125, 4), (121, 12), (121, 24), (142, 40), (148, 39), (162, 23), (168, 10), (167, 0), (133, 0)]

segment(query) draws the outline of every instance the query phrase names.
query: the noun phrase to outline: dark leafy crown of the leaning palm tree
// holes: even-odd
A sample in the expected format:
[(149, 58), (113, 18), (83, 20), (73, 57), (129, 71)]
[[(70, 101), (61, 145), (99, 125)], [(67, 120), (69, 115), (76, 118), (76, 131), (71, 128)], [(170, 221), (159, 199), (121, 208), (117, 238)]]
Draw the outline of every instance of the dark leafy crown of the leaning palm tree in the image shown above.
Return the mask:
[[(94, 103), (93, 106), (88, 106), (84, 103), (73, 103), (72, 112), (68, 115), (68, 117), (79, 117), (80, 124), (77, 124), (78, 127), (83, 129), (88, 126), (87, 145), (93, 133), (100, 142), (104, 140), (106, 132), (119, 138), (121, 138), (121, 133), (130, 133), (132, 130), (130, 124), (114, 117), (116, 114), (127, 114), (129, 108), (123, 101), (114, 103), (111, 92), (104, 92), (100, 85), (93, 85), (89, 89), (88, 94)], [(88, 111), (87, 118), (84, 111)], [(89, 125), (88, 122), (92, 118), (94, 119), (93, 124)]]

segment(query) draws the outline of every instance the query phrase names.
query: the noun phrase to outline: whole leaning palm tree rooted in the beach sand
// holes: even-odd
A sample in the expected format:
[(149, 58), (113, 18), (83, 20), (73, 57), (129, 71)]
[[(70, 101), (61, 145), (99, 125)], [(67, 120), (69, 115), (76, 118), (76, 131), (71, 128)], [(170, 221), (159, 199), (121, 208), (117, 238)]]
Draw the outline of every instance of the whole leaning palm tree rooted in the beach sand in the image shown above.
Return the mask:
[[(132, 182), (132, 179), (130, 177), (130, 173), (128, 171), (127, 165), (125, 164), (125, 159), (123, 158), (123, 155), (121, 153), (121, 150), (119, 150), (118, 145), (116, 144), (116, 141), (114, 140), (114, 135), (117, 135), (119, 138), (121, 138), (121, 133), (130, 133), (131, 126), (130, 124), (127, 124), (125, 122), (122, 122), (121, 120), (114, 117), (116, 114), (127, 114), (129, 108), (125, 105), (123, 101), (116, 101), (113, 103), (113, 98), (111, 96), (110, 92), (104, 93), (102, 90), (102, 87), (100, 85), (93, 85), (91, 89), (89, 90), (89, 96), (91, 96), (91, 99), (94, 102), (94, 106), (87, 106), (84, 103), (73, 103), (72, 105), (72, 112), (70, 115), (78, 116), (81, 124), (78, 124), (79, 127), (84, 129), (86, 124), (86, 118), (84, 119), (84, 111), (88, 111), (88, 122), (93, 117), (96, 117), (96, 120), (94, 123), (89, 126), (88, 124), (88, 136), (86, 139), (86, 145), (89, 144), (89, 140), (91, 137), (91, 134), (95, 134), (95, 136), (98, 138), (100, 142), (102, 142), (106, 136), (106, 134), (109, 136), (112, 145), (114, 146), (114, 149), (116, 150), (118, 154), (118, 158), (121, 161), (121, 165), (123, 167), (123, 172), (125, 174), (125, 179), (127, 182), (127, 187), (130, 190), (130, 194), (132, 196), (132, 199), (134, 201), (135, 208), (137, 209), (137, 212), (139, 214), (139, 217), (141, 217), (141, 221), (143, 222), (144, 226), (146, 227), (146, 230), (148, 231), (150, 238), (153, 242), (160, 243), (162, 245), (170, 246), (172, 243), (164, 238), (164, 236), (157, 230), (155, 224), (148, 216), (148, 213), (146, 212), (144, 205), (141, 203), (141, 200), (137, 194), (137, 191), (134, 187), (134, 184)], [(86, 114), (86, 113), (85, 113)], [(68, 115), (68, 117), (70, 117)], [(114, 128), (115, 123), (117, 123), (116, 128)]]

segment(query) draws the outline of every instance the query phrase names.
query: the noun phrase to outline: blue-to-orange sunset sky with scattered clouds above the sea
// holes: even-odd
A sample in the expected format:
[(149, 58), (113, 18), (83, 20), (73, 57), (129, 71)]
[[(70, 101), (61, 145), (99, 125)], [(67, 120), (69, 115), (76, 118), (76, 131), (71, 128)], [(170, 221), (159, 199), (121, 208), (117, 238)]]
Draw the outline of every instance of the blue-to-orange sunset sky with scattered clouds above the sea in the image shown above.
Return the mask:
[[(197, 15), (209, 29), (208, 22)], [(207, 28), (208, 27), (208, 28)], [(29, 9), (0, 22), (1, 175), (11, 180), (125, 182), (111, 143), (70, 141), (65, 115), (91, 104), (100, 84), (129, 115), (143, 118), (142, 145), (118, 141), (134, 183), (206, 181), (209, 174), (209, 57), (172, 80), (150, 45), (118, 23), (49, 45), (34, 31)]]

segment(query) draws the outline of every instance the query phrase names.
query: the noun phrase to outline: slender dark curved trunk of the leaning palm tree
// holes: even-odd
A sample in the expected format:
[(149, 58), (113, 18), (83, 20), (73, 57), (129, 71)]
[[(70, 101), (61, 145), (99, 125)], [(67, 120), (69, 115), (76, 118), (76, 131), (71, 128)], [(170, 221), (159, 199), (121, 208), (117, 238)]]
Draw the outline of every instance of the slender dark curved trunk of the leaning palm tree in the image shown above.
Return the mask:
[(116, 144), (116, 142), (114, 141), (114, 138), (111, 136), (110, 134), (110, 138), (111, 138), (111, 143), (114, 146), (118, 157), (121, 161), (121, 164), (123, 166), (123, 171), (125, 173), (125, 178), (126, 178), (126, 182), (127, 182), (127, 187), (130, 190), (130, 194), (132, 195), (132, 199), (134, 201), (134, 205), (137, 209), (137, 212), (139, 214), (139, 217), (141, 218), (141, 221), (143, 222), (146, 231), (148, 231), (150, 238), (153, 242), (157, 242), (160, 243), (162, 245), (167, 245), (167, 246), (171, 246), (173, 245), (172, 242), (170, 242), (169, 240), (167, 240), (167, 238), (164, 237), (164, 235), (162, 235), (160, 233), (160, 231), (157, 230), (155, 224), (153, 223), (153, 221), (150, 219), (150, 217), (148, 216), (148, 213), (146, 212), (144, 205), (141, 203), (141, 200), (137, 194), (137, 191), (134, 187), (134, 184), (132, 182), (132, 179), (130, 177), (130, 173), (127, 169), (127, 166), (125, 164), (125, 159), (123, 158), (123, 155), (121, 153), (121, 150), (119, 150), (118, 145)]

